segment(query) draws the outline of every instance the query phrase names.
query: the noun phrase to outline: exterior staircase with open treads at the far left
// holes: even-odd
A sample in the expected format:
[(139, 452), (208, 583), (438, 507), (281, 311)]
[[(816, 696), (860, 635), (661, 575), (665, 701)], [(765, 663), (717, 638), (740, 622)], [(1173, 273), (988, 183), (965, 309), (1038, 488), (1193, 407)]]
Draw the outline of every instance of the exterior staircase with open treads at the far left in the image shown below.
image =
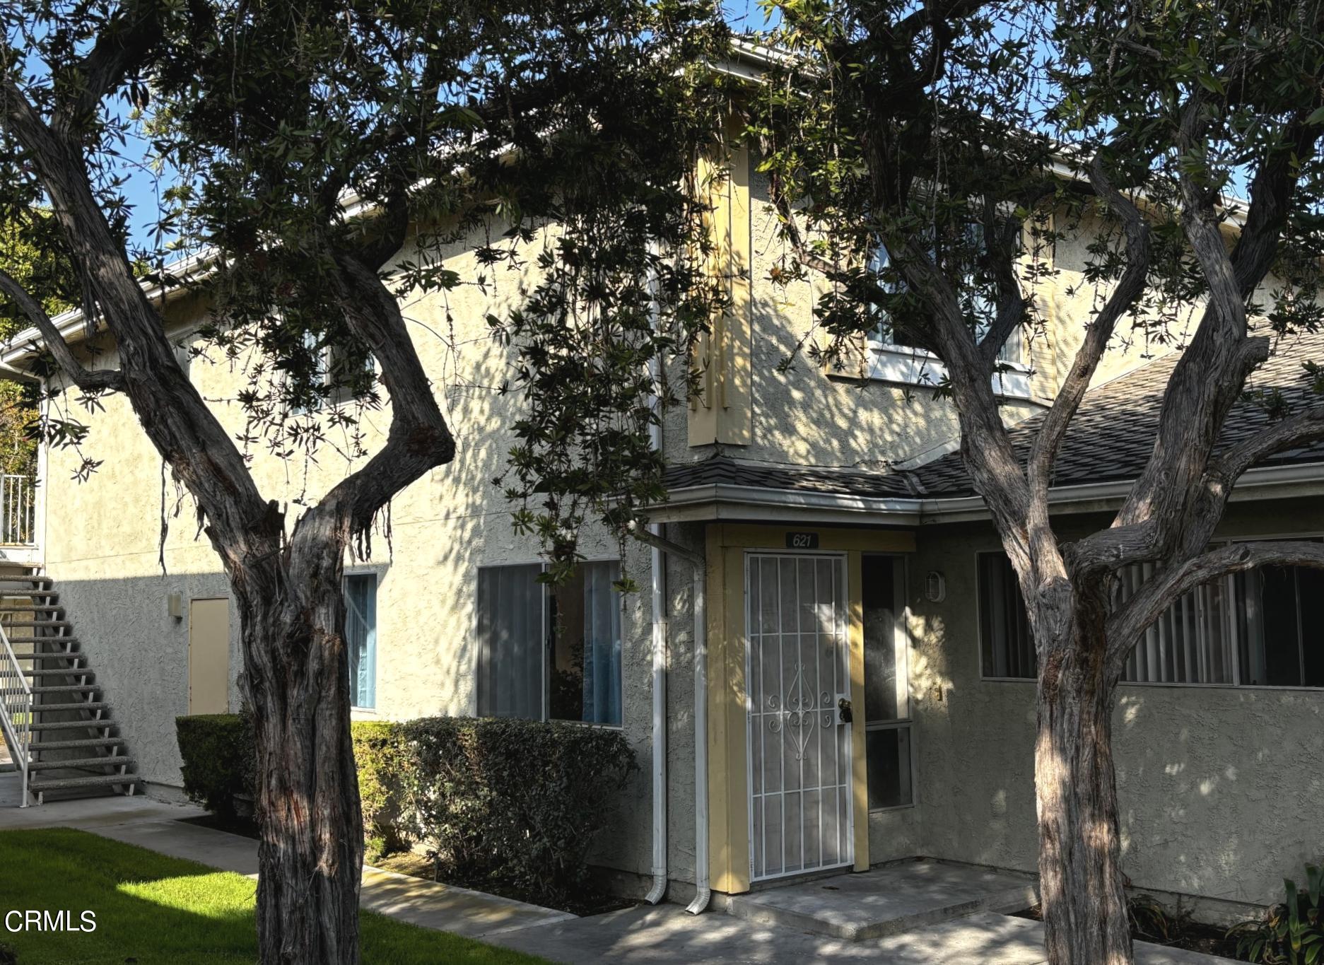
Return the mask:
[(0, 574), (0, 731), (23, 806), (46, 794), (132, 794), (139, 778), (111, 706), (49, 577)]

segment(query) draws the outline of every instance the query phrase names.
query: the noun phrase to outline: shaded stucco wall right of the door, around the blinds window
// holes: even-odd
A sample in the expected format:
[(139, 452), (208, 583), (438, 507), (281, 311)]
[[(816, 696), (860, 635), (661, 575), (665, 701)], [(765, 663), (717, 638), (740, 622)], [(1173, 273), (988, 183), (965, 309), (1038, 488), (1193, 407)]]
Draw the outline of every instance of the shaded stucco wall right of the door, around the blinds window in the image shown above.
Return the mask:
[[(1234, 504), (1221, 532), (1320, 531), (1317, 500), (1283, 500)], [(1033, 871), (1034, 683), (980, 679), (974, 555), (997, 548), (986, 524), (937, 526), (911, 561), (919, 851)], [(929, 569), (941, 604), (923, 597)], [(1324, 691), (1121, 684), (1113, 748), (1137, 888), (1270, 903), (1319, 860)]]

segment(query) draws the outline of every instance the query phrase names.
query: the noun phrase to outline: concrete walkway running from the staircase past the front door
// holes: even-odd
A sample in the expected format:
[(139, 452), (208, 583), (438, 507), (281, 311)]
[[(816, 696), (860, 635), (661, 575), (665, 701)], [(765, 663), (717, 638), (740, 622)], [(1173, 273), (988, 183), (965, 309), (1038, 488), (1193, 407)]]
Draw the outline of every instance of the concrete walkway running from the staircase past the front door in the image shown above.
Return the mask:
[[(257, 842), (179, 821), (203, 814), (197, 807), (146, 797), (85, 798), (25, 809), (17, 807), (17, 802), (16, 776), (0, 774), (0, 830), (78, 827), (241, 875), (257, 874)], [(367, 867), (363, 872), (363, 907), (424, 928), (479, 937), (567, 965), (813, 965), (853, 961), (873, 965), (1038, 965), (1045, 961), (1043, 927), (1038, 921), (982, 911), (1014, 903), (1017, 890), (1023, 896), (1023, 879), (1009, 882), (997, 874), (963, 870), (967, 884), (964, 891), (953, 894), (937, 884), (944, 879), (941, 867), (915, 863), (867, 875), (842, 875), (768, 890), (747, 896), (744, 908), (732, 908), (730, 915), (710, 911), (692, 916), (679, 905), (663, 904), (584, 919)], [(879, 887), (887, 874), (910, 880), (910, 894), (898, 887), (888, 895), (887, 888)], [(841, 931), (845, 919), (838, 920), (838, 907), (831, 900), (838, 892), (842, 905), (854, 905), (866, 913), (867, 928), (851, 932), (863, 940), (839, 937), (846, 933)], [(968, 909), (980, 911), (927, 924), (932, 919), (924, 916), (932, 913), (932, 903), (939, 896), (947, 901), (944, 908), (959, 901), (967, 903)], [(892, 923), (900, 920), (904, 920), (906, 931), (894, 927)], [(831, 933), (813, 933), (805, 931), (806, 927)], [(1139, 965), (1226, 962), (1223, 958), (1140, 942), (1136, 945), (1136, 961)]]

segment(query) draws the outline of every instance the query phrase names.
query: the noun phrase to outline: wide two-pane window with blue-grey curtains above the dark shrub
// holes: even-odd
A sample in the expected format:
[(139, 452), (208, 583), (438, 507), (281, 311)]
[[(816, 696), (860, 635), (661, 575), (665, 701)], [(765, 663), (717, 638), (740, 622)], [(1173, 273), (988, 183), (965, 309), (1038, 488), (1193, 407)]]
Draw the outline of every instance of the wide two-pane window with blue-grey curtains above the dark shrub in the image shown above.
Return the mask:
[(620, 564), (580, 564), (560, 586), (542, 572), (478, 571), (478, 716), (620, 727)]

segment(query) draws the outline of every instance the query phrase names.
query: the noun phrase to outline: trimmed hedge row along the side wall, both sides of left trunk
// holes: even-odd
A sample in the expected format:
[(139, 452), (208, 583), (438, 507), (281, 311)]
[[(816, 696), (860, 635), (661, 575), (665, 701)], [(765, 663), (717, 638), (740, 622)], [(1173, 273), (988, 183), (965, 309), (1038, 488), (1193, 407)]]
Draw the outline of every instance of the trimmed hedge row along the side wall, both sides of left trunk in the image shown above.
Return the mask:
[[(369, 860), (424, 841), (444, 879), (503, 882), (531, 900), (583, 886), (588, 851), (637, 765), (620, 731), (534, 720), (354, 721)], [(177, 717), (184, 790), (228, 817), (252, 800), (246, 715)]]

